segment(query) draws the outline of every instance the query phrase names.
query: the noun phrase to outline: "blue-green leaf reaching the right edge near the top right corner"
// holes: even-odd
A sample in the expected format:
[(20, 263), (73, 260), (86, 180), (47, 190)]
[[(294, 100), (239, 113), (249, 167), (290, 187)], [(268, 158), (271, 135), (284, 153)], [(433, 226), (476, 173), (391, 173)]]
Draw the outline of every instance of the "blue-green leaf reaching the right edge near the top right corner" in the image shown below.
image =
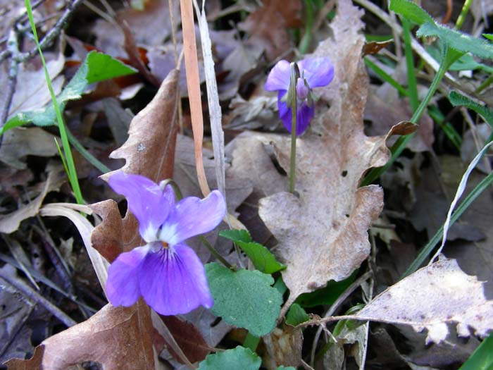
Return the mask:
[(419, 27), (416, 35), (419, 37), (439, 37), (447, 46), (462, 53), (472, 53), (486, 59), (493, 58), (492, 43), (487, 42), (485, 39), (466, 35), (457, 30), (451, 30), (451, 28), (445, 27), (444, 25), (425, 23)]

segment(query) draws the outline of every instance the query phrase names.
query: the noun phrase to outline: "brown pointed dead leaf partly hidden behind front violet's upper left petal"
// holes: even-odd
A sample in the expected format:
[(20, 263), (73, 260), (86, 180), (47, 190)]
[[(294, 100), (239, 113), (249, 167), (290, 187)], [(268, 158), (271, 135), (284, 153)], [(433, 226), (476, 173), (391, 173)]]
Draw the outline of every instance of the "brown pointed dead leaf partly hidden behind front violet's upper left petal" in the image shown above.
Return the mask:
[[(177, 77), (177, 70), (173, 70), (154, 99), (132, 119), (127, 141), (110, 155), (113, 159), (125, 159), (125, 166), (118, 171), (144, 175), (156, 182), (173, 175)], [(106, 180), (112, 173), (101, 178)], [(104, 219), (92, 233), (92, 245), (108, 261), (113, 261), (121, 252), (143, 245), (137, 220), (130, 212), (122, 220), (116, 202), (111, 199), (99, 202), (93, 204), (92, 209)]]

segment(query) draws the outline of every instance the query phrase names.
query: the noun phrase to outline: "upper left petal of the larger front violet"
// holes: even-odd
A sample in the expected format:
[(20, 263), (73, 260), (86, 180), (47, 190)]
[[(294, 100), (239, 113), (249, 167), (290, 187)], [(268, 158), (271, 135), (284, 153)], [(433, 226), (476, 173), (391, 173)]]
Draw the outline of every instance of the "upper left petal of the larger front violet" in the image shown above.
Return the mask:
[(115, 192), (127, 198), (128, 208), (139, 221), (142, 238), (146, 242), (155, 241), (159, 226), (175, 204), (172, 187), (167, 186), (163, 191), (149, 178), (123, 171), (111, 175), (108, 183)]

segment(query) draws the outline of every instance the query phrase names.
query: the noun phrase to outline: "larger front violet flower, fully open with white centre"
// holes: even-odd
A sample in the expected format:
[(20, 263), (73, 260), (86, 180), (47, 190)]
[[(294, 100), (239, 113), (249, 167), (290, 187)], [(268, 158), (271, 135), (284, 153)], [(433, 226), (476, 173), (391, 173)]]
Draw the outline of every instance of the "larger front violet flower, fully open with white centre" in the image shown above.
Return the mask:
[(146, 245), (122, 253), (108, 269), (106, 295), (113, 306), (129, 307), (139, 297), (162, 315), (186, 314), (214, 304), (204, 265), (185, 240), (216, 228), (226, 212), (223, 195), (187, 197), (175, 203), (173, 188), (162, 189), (140, 175), (118, 172), (109, 185), (125, 195)]

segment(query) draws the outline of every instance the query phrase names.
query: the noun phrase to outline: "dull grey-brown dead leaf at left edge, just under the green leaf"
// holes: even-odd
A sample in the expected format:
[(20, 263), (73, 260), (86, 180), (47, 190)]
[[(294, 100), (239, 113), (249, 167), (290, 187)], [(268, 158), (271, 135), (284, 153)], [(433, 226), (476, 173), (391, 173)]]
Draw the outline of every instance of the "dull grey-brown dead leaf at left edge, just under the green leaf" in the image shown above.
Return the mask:
[(25, 156), (54, 156), (58, 154), (55, 136), (42, 128), (13, 128), (4, 133), (0, 147), (0, 161), (23, 170), (27, 165)]

